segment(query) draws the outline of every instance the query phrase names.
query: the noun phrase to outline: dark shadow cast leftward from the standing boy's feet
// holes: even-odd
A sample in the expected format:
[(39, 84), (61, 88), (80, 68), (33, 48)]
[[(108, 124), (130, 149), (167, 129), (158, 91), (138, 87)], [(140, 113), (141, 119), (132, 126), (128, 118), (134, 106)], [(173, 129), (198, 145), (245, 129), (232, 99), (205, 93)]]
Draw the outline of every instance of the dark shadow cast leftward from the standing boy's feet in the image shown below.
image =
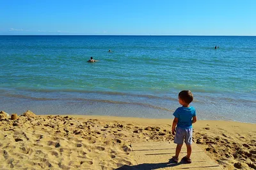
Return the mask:
[(156, 164), (140, 164), (140, 165), (136, 165), (136, 166), (127, 166), (124, 165), (122, 167), (118, 167), (116, 170), (135, 170), (135, 169), (145, 169), (145, 170), (149, 170), (149, 169), (159, 169), (159, 168), (163, 168), (163, 167), (173, 167), (173, 166), (179, 166), (180, 164), (184, 164), (184, 162), (179, 162), (179, 163), (175, 163), (173, 162), (172, 159), (170, 159), (169, 162), (164, 162), (164, 163), (156, 163)]

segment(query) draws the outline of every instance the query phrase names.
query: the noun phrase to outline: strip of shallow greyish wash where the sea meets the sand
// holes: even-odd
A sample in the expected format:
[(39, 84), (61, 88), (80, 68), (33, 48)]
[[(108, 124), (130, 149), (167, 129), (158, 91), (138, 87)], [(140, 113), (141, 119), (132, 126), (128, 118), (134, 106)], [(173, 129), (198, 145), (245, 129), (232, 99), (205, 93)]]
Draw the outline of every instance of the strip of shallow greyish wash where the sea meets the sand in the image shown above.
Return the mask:
[[(102, 97), (103, 98), (103, 97)], [(122, 100), (121, 100), (122, 99)], [(118, 99), (119, 100), (119, 99)], [(8, 112), (26, 111), (31, 109), (38, 114), (79, 114), (79, 115), (108, 115), (108, 116), (122, 116), (122, 117), (136, 117), (136, 118), (173, 118), (172, 113), (180, 107), (176, 100), (162, 100), (162, 99), (148, 99), (144, 102), (133, 101), (134, 98), (125, 99), (120, 98), (118, 101), (116, 98), (109, 100), (88, 100), (86, 98), (79, 98), (74, 100), (73, 98), (51, 99), (38, 98), (34, 100), (31, 98), (13, 98), (5, 97), (0, 99), (2, 108), (5, 108)], [(127, 100), (126, 102), (123, 102)], [(139, 100), (137, 98), (136, 100)], [(14, 104), (13, 104), (14, 103)], [(31, 107), (32, 106), (32, 107)], [(223, 104), (218, 103), (206, 104), (204, 102), (195, 102), (193, 106), (196, 108), (196, 115), (199, 120), (225, 120), (225, 121), (238, 121), (244, 123), (256, 122), (256, 117), (253, 114), (255, 107), (248, 107), (245, 109), (243, 104)], [(234, 112), (235, 111), (235, 112)], [(246, 114), (244, 114), (246, 112)]]

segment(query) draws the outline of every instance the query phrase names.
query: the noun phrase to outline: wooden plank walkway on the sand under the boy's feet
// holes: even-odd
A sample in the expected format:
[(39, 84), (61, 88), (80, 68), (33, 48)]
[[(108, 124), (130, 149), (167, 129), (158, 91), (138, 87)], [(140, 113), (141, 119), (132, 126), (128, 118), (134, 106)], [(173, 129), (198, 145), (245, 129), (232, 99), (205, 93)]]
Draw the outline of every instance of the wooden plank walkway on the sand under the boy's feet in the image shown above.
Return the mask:
[(186, 146), (182, 146), (180, 160), (178, 163), (172, 162), (170, 158), (175, 155), (176, 145), (172, 142), (151, 142), (151, 143), (132, 143), (131, 156), (137, 165), (123, 166), (119, 169), (222, 169), (214, 160), (211, 160), (202, 149), (193, 144), (191, 164), (180, 161), (186, 156)]

